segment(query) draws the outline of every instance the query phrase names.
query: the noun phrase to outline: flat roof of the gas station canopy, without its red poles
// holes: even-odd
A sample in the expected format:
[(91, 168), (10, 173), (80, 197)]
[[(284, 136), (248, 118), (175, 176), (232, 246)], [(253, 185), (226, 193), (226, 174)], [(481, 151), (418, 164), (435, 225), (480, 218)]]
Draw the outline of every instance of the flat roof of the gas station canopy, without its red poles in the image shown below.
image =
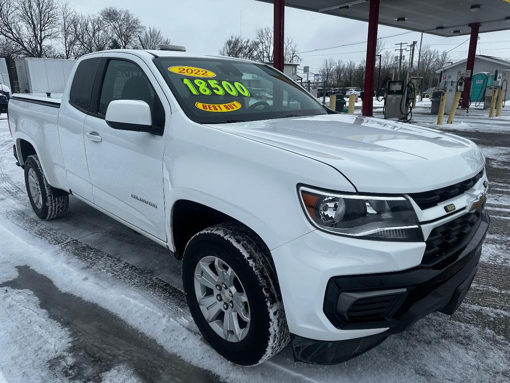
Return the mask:
[[(273, 3), (273, 0), (258, 0)], [(285, 0), (286, 7), (369, 21), (367, 0)], [(510, 0), (381, 0), (379, 25), (443, 37), (510, 29)]]

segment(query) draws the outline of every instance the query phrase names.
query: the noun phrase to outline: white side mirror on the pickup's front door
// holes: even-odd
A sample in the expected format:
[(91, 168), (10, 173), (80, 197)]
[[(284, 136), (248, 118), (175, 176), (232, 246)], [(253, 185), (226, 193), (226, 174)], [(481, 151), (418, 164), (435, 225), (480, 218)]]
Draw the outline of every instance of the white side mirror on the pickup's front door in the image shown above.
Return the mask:
[(150, 107), (145, 101), (115, 100), (106, 110), (105, 121), (110, 128), (160, 134), (161, 129), (152, 126)]

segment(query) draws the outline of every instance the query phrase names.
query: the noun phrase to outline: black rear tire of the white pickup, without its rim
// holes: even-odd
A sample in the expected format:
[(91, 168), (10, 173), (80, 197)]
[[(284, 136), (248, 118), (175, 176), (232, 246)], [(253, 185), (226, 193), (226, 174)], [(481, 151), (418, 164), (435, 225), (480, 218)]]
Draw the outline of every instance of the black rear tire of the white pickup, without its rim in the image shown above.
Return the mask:
[[(39, 181), (42, 206), (36, 206), (29, 187), (29, 171), (33, 169)], [(43, 220), (53, 220), (64, 216), (69, 208), (69, 195), (64, 190), (55, 189), (49, 185), (42, 171), (41, 163), (36, 154), (30, 155), (25, 160), (25, 186), (29, 196), (30, 204), (37, 217)]]

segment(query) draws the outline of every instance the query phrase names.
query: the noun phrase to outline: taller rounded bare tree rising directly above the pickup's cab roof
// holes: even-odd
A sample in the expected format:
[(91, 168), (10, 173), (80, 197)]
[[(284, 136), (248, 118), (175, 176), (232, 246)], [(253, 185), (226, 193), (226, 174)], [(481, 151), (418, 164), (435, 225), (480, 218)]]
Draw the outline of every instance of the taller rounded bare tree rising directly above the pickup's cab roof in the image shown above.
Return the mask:
[(143, 31), (142, 22), (129, 9), (106, 7), (101, 10), (100, 16), (122, 48), (135, 43), (138, 34)]

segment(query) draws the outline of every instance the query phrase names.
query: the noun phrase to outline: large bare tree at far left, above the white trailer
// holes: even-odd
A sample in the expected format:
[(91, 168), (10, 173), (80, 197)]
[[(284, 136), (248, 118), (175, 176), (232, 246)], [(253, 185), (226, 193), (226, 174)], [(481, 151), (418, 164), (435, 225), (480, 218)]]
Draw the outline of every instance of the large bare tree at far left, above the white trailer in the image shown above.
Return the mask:
[(19, 53), (42, 57), (45, 44), (58, 38), (58, 4), (55, 0), (2, 0), (0, 35)]

